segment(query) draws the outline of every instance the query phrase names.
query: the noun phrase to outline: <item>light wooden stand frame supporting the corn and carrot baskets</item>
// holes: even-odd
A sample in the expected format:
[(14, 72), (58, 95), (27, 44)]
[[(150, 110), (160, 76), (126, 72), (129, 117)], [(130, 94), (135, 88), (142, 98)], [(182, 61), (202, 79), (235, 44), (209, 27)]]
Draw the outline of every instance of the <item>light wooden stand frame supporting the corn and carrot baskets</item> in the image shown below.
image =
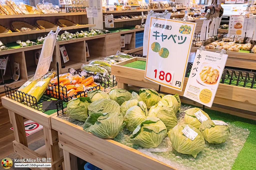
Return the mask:
[[(58, 132), (51, 128), (50, 117), (56, 115), (53, 113), (47, 115), (35, 109), (32, 109), (24, 104), (9, 99), (8, 97), (2, 97), (3, 107), (8, 109), (10, 121), (13, 124), (14, 137), (13, 148), (15, 153), (19, 155), (19, 159), (35, 159), (37, 158), (51, 158), (51, 168), (31, 168), (31, 169), (43, 169), (43, 170), (61, 170), (63, 156), (59, 150), (59, 138)], [(43, 126), (45, 146), (42, 146), (36, 151), (28, 148), (28, 142), (26, 138), (26, 132), (24, 127), (23, 117), (32, 120)], [(40, 151), (40, 152), (39, 152)], [(43, 152), (42, 152), (43, 151)], [(46, 151), (46, 156), (44, 152)], [(28, 163), (28, 162), (26, 162)], [(32, 162), (31, 162), (32, 163)]]

